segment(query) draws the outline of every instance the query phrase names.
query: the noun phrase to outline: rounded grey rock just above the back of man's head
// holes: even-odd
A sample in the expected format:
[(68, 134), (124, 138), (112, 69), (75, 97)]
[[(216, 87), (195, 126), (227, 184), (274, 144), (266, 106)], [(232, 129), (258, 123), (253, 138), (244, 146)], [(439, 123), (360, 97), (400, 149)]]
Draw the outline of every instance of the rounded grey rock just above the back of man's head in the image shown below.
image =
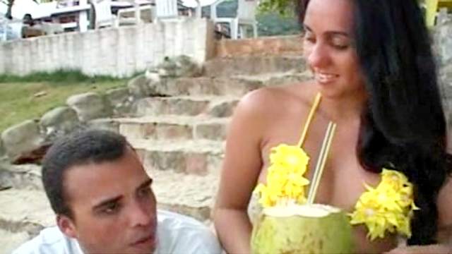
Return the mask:
[(57, 107), (42, 116), (40, 126), (47, 140), (54, 140), (74, 131), (80, 122), (77, 112), (70, 107)]

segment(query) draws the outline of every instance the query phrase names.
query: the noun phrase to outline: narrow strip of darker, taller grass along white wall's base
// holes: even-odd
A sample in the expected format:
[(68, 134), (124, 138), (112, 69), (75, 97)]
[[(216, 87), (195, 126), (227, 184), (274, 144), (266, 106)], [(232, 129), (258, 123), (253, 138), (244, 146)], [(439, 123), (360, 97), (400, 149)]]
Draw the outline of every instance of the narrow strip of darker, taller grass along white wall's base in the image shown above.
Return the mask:
[(49, 72), (35, 72), (28, 75), (18, 76), (11, 74), (1, 74), (0, 83), (96, 83), (121, 80), (108, 75), (88, 76), (81, 71), (76, 70), (59, 70)]

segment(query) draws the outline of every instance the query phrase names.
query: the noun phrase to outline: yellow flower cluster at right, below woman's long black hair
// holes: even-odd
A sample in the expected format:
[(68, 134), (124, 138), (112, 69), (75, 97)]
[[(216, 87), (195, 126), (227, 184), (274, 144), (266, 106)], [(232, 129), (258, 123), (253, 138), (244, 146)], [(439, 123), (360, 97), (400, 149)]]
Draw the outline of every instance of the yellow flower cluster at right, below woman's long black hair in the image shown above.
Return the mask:
[(383, 169), (381, 182), (376, 188), (366, 186), (350, 214), (350, 224), (365, 224), (373, 241), (383, 238), (386, 231), (411, 236), (410, 219), (418, 210), (413, 200), (412, 183), (408, 178), (394, 170)]

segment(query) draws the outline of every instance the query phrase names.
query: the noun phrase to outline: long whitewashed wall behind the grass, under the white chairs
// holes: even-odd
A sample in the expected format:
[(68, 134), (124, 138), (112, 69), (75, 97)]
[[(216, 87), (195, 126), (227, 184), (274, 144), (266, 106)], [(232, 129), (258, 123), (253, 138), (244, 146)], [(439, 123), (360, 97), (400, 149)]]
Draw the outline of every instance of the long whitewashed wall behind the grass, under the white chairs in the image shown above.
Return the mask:
[(186, 55), (202, 63), (213, 56), (214, 42), (213, 24), (196, 18), (67, 32), (0, 44), (0, 73), (67, 68), (124, 77), (155, 66), (165, 56)]

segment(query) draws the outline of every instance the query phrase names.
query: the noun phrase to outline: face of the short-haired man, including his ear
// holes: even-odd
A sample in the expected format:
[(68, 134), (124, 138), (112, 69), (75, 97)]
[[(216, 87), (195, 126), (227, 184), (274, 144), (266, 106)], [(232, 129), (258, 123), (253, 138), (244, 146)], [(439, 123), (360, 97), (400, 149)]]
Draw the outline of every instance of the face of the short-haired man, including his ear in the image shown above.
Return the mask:
[(64, 175), (73, 218), (59, 216), (85, 253), (152, 253), (156, 239), (152, 180), (133, 150), (112, 162), (75, 166)]

